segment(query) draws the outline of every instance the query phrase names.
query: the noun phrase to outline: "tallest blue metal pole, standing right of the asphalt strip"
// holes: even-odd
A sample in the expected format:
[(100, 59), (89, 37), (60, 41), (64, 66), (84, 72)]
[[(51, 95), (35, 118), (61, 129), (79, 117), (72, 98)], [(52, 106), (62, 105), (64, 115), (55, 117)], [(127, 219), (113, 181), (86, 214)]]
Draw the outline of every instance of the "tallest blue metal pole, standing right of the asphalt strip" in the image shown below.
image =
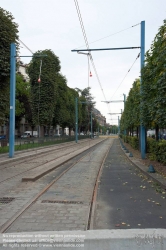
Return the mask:
[[(140, 85), (140, 94), (142, 94), (142, 68), (144, 67), (144, 55), (145, 55), (145, 21), (141, 22), (141, 85)], [(143, 103), (141, 103), (142, 109)], [(142, 118), (140, 121), (140, 142), (141, 142), (141, 157), (145, 159), (145, 141), (146, 141), (146, 133), (145, 127), (142, 125)]]

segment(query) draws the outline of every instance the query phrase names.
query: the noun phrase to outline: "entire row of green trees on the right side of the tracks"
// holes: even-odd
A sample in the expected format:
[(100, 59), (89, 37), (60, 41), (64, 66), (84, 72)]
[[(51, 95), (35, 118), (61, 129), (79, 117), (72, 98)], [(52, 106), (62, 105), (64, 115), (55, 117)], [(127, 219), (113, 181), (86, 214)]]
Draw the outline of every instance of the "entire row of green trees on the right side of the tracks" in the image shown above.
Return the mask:
[[(141, 122), (140, 122), (141, 121)], [(166, 128), (166, 20), (159, 28), (151, 48), (145, 54), (145, 66), (140, 79), (130, 89), (121, 117), (121, 131), (132, 134), (140, 124), (147, 129)]]

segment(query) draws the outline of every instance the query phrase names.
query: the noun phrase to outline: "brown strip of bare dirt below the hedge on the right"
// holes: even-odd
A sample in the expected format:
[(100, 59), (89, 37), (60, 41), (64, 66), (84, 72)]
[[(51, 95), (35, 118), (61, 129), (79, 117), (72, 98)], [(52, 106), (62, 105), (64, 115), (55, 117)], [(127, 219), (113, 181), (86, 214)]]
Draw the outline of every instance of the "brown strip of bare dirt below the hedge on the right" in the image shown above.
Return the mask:
[(164, 177), (166, 177), (166, 165), (158, 162), (158, 161), (152, 161), (148, 158), (146, 159), (141, 159), (141, 154), (138, 150), (133, 149), (128, 143), (123, 142), (123, 144), (126, 146), (126, 148), (132, 152), (133, 156), (135, 158), (138, 158), (144, 165), (147, 166), (147, 170), (149, 165), (153, 165), (153, 167), (155, 168), (156, 172), (160, 173), (161, 175), (163, 175)]

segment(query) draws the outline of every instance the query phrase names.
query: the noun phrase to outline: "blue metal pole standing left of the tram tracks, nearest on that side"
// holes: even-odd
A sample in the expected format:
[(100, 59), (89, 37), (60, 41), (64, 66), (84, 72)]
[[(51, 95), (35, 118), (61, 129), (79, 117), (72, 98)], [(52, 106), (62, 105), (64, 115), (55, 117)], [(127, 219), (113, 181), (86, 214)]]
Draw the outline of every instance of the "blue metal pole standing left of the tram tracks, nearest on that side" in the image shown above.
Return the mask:
[(10, 130), (9, 130), (9, 157), (14, 156), (15, 144), (15, 94), (16, 93), (16, 45), (10, 45)]

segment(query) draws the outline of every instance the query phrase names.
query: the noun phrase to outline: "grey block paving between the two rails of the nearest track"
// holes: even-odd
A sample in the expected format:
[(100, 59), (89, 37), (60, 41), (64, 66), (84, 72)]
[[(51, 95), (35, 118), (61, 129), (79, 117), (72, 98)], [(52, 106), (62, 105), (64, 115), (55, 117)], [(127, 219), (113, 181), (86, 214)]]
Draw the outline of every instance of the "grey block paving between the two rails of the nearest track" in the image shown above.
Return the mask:
[(55, 182), (8, 232), (86, 230), (96, 177), (113, 139), (99, 144)]

